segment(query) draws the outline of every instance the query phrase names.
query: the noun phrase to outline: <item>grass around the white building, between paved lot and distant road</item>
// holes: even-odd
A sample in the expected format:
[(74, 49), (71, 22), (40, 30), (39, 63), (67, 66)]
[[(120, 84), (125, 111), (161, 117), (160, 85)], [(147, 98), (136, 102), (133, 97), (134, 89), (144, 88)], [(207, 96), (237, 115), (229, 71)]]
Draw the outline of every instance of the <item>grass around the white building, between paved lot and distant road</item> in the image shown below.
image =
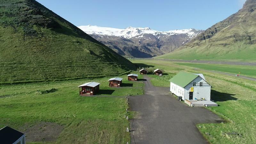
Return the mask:
[[(206, 80), (212, 85), (212, 100), (215, 100), (219, 105), (208, 109), (225, 119), (227, 123), (197, 124), (199, 131), (213, 144), (256, 143), (256, 82), (241, 78), (237, 79), (233, 76), (216, 76), (211, 72), (195, 70), (182, 65), (180, 65), (181, 68), (177, 68), (179, 65), (168, 61), (132, 60), (132, 62), (162, 67), (166, 69), (165, 73), (167, 75), (165, 76), (169, 74), (172, 76), (180, 70), (203, 73)], [(230, 68), (232, 67), (230, 66)], [(164, 81), (157, 76), (149, 76), (153, 77), (151, 79), (153, 85), (169, 87), (167, 80)]]

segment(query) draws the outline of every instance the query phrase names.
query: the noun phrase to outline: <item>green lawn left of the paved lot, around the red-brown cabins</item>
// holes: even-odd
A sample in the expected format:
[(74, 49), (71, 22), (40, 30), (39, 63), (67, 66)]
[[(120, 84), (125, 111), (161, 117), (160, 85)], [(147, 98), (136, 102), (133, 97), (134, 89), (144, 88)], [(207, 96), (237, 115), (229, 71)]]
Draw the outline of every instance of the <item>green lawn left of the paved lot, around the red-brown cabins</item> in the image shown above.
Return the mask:
[[(120, 77), (120, 76), (119, 76)], [(109, 88), (108, 79), (84, 79), (61, 82), (1, 85), (0, 127), (11, 126), (26, 132), (28, 143), (126, 143), (130, 133), (125, 119), (128, 94), (141, 94), (142, 82), (129, 82), (124, 87)], [(141, 76), (139, 76), (141, 78)], [(80, 84), (95, 81), (100, 94), (79, 96)], [(37, 90), (57, 89), (38, 94)], [(55, 133), (56, 132), (56, 133)], [(59, 132), (59, 133), (58, 133)]]

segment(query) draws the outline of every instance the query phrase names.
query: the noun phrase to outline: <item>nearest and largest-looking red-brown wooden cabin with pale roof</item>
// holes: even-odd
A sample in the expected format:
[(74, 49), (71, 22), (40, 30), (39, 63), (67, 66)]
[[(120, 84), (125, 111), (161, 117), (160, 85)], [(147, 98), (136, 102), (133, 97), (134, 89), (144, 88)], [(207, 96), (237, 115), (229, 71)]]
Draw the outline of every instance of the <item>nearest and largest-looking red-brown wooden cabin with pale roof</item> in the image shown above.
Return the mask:
[(78, 87), (80, 95), (95, 95), (100, 91), (100, 83), (96, 82), (85, 83)]

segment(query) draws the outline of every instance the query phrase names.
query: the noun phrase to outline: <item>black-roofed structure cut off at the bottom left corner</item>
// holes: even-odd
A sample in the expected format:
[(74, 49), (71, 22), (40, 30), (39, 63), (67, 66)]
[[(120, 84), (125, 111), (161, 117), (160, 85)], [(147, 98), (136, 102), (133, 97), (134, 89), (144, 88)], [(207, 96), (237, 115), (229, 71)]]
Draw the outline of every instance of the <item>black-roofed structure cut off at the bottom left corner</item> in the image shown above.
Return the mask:
[(25, 144), (25, 134), (9, 126), (0, 129), (0, 143), (2, 144)]

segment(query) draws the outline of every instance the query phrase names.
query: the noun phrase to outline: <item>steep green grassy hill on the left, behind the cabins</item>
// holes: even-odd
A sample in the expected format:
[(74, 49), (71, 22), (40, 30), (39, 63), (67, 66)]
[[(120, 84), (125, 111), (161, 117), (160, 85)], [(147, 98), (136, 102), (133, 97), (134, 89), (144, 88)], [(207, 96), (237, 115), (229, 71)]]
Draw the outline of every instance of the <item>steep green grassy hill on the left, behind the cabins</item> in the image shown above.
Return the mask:
[(135, 66), (35, 0), (0, 1), (0, 83), (124, 73)]

